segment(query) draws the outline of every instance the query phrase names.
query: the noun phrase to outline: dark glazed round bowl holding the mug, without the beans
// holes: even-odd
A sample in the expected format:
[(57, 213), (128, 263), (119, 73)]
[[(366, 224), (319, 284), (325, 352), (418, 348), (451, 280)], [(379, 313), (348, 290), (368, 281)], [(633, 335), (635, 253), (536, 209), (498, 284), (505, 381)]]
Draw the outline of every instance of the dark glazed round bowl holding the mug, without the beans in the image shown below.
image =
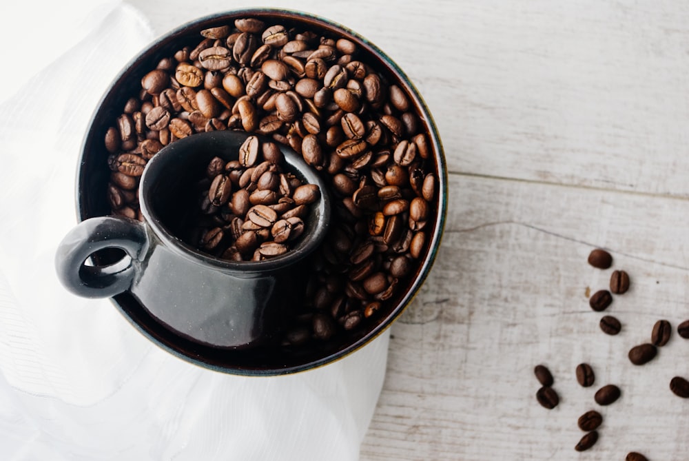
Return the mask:
[[(158, 346), (179, 358), (224, 373), (274, 376), (305, 371), (347, 356), (376, 338), (400, 316), (424, 283), (438, 252), (447, 209), (447, 175), (440, 136), (426, 104), (407, 75), (384, 52), (345, 26), (311, 14), (265, 8), (236, 10), (203, 17), (169, 32), (143, 50), (116, 77), (96, 108), (83, 141), (76, 184), (76, 205), (81, 221), (110, 214), (110, 206), (107, 203), (110, 170), (107, 167), (108, 152), (105, 150), (103, 139), (108, 127), (112, 126), (116, 117), (122, 113), (122, 107), (127, 99), (141, 90), (143, 75), (156, 68), (163, 57), (172, 57), (176, 50), (187, 45), (198, 44), (201, 30), (233, 24), (235, 19), (246, 17), (256, 17), (267, 23), (294, 25), (328, 34), (331, 37), (345, 37), (356, 43), (360, 49), (360, 61), (371, 65), (389, 82), (399, 85), (409, 94), (410, 102), (422, 124), (420, 132), (425, 132), (429, 139), (435, 163), (434, 174), (438, 183), (435, 194), (437, 206), (431, 210), (431, 217), (426, 225), (426, 244), (422, 263), (415, 274), (409, 278), (407, 289), (402, 290), (399, 296), (393, 298), (391, 308), (387, 311), (362, 322), (364, 328), (355, 329), (333, 340), (312, 342), (309, 347), (302, 348), (261, 347), (243, 351), (227, 351), (227, 349), (208, 347), (174, 334), (157, 322), (145, 307), (127, 292), (112, 298), (115, 307), (134, 327)], [(94, 256), (94, 259), (97, 264), (108, 264), (112, 262), (112, 255), (98, 254)]]

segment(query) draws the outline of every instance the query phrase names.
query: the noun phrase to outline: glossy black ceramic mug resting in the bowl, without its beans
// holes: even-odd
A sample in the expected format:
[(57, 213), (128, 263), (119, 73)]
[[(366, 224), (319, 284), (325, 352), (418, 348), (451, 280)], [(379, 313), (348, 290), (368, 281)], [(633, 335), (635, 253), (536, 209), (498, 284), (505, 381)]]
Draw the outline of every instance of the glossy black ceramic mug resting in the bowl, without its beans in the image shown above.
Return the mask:
[[(178, 232), (189, 190), (211, 158), (238, 158), (245, 132), (196, 134), (163, 148), (146, 165), (139, 186), (144, 222), (119, 216), (89, 218), (63, 238), (58, 276), (70, 291), (91, 298), (129, 291), (159, 322), (203, 345), (245, 348), (274, 338), (282, 317), (300, 302), (300, 264), (327, 234), (327, 187), (301, 156), (284, 145), (289, 172), (320, 187), (298, 243), (269, 260), (214, 258), (185, 243)], [(182, 215), (181, 215), (182, 214)], [(119, 249), (107, 266), (88, 265), (96, 252)]]

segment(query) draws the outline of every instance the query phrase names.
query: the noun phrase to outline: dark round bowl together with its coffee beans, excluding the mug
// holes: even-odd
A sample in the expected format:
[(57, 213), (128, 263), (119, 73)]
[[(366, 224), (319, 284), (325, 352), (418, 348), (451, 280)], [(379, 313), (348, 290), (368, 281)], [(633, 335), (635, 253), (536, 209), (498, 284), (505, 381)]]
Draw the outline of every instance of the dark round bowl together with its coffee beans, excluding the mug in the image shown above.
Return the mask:
[[(321, 192), (332, 198), (331, 230), (300, 274), (305, 302), (285, 313), (278, 341), (241, 354), (171, 334), (126, 293), (114, 298), (123, 314), (187, 360), (247, 374), (335, 360), (389, 326), (429, 273), (446, 213), (442, 147), (407, 76), (369, 41), (308, 14), (242, 10), (188, 23), (136, 57), (96, 110), (79, 167), (80, 218), (141, 219), (137, 191), (147, 161), (165, 145), (214, 130), (287, 145), (329, 185)], [(270, 162), (261, 152), (263, 161), (254, 163), (252, 152), (241, 167)], [(298, 208), (303, 191), (285, 195), (277, 171), (263, 178), (234, 164), (208, 166), (214, 177), (200, 192), (200, 207), (218, 207), (220, 215), (210, 214), (214, 225), (194, 223), (195, 245), (216, 258), (285, 251), (299, 225), (289, 219), (298, 212), (282, 208)], [(236, 213), (249, 212), (247, 194), (254, 219)], [(250, 241), (238, 241), (234, 218)], [(238, 244), (247, 244), (244, 252)], [(98, 265), (119, 257), (94, 256)]]

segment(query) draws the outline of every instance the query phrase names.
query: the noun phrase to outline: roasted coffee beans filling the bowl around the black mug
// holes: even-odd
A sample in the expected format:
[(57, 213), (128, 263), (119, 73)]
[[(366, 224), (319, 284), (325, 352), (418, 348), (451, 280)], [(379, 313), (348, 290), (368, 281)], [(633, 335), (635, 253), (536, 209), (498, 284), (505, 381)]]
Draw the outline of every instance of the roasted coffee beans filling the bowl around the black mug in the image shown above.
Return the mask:
[[(361, 331), (407, 291), (438, 203), (428, 126), (377, 63), (355, 41), (305, 23), (243, 18), (201, 30), (141, 75), (105, 133), (112, 214), (142, 219), (139, 177), (176, 139), (212, 130), (270, 136), (326, 178), (333, 198), (331, 232), (309, 264), (307, 301), (285, 325), (282, 345)], [(211, 192), (222, 198), (223, 184)], [(218, 235), (208, 229), (201, 245), (214, 251)]]

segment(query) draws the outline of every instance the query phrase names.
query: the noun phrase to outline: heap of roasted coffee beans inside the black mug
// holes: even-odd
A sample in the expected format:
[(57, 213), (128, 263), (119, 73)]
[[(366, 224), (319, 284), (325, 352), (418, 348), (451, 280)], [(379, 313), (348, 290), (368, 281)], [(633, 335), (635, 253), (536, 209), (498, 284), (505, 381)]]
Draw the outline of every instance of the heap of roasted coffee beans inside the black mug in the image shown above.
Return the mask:
[(218, 258), (260, 261), (287, 254), (304, 232), (309, 207), (320, 189), (285, 171), (276, 143), (249, 136), (238, 160), (214, 157), (200, 184), (194, 238), (197, 248)]

